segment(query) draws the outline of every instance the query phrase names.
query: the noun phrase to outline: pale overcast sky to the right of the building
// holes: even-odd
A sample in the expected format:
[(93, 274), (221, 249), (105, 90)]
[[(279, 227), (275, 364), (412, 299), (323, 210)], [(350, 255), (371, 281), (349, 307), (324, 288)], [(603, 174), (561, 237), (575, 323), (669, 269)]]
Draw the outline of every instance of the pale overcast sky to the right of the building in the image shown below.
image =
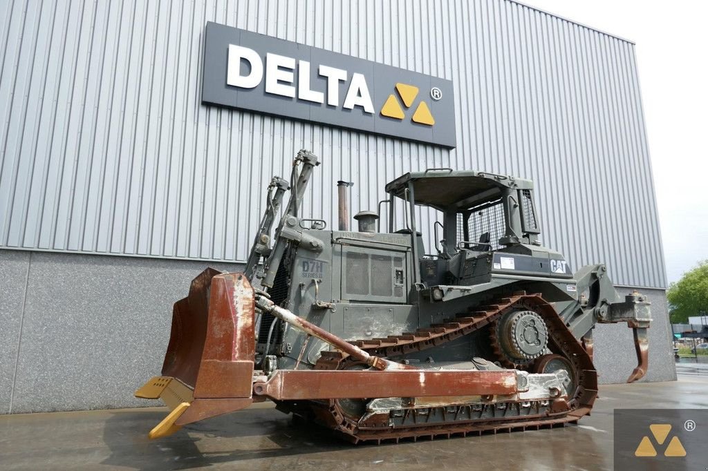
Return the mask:
[(708, 2), (522, 3), (636, 43), (667, 277), (678, 281), (708, 259)]

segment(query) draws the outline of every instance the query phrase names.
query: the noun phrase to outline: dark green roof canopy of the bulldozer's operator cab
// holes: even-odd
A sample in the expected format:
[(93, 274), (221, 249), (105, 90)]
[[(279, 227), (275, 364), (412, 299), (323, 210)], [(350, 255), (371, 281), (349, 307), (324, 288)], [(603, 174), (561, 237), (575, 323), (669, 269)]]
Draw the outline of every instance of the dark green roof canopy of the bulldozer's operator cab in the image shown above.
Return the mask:
[(405, 198), (409, 183), (416, 204), (441, 211), (464, 210), (501, 198), (504, 188), (531, 190), (531, 180), (474, 170), (428, 169), (409, 172), (386, 185), (386, 192)]

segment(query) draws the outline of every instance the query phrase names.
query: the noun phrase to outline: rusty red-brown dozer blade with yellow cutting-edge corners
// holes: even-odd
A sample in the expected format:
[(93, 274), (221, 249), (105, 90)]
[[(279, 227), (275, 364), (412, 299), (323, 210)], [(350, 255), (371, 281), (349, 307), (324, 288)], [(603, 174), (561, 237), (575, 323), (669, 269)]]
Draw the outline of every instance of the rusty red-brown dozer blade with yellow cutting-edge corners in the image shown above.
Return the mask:
[(248, 407), (253, 383), (253, 289), (242, 274), (206, 269), (174, 304), (162, 376), (136, 397), (162, 399), (171, 413), (150, 438), (185, 424)]

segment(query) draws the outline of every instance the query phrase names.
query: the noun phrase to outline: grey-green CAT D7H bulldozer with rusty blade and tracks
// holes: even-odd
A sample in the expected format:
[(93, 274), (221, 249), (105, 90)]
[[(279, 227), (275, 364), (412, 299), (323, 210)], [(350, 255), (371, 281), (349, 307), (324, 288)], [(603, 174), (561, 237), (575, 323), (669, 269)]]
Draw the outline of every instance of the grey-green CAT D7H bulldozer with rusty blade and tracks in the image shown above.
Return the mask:
[(171, 409), (150, 438), (265, 400), (353, 443), (576, 423), (598, 396), (598, 322), (632, 328), (628, 382), (646, 373), (649, 302), (542, 245), (532, 181), (405, 173), (358, 231), (338, 182), (335, 231), (301, 217), (317, 165), (299, 151), (270, 181), (244, 272), (206, 269), (174, 304), (161, 376), (135, 392)]

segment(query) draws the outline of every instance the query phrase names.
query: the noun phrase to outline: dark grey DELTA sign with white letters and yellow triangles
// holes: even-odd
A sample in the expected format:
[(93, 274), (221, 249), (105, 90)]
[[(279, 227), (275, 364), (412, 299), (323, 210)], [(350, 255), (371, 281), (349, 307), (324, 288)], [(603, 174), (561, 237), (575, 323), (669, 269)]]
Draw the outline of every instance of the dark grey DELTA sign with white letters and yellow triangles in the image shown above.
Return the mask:
[(455, 147), (452, 82), (207, 23), (202, 103)]

